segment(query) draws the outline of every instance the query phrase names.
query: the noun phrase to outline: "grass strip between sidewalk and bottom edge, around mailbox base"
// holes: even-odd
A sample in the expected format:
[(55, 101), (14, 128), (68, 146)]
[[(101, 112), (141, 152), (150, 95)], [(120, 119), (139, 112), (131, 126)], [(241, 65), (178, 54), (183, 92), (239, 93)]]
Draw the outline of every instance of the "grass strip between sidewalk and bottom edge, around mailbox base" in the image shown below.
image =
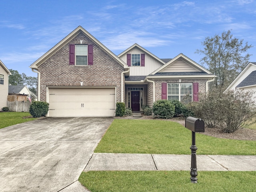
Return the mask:
[(90, 171), (79, 178), (92, 192), (253, 192), (256, 172), (198, 172), (198, 183), (188, 171)]

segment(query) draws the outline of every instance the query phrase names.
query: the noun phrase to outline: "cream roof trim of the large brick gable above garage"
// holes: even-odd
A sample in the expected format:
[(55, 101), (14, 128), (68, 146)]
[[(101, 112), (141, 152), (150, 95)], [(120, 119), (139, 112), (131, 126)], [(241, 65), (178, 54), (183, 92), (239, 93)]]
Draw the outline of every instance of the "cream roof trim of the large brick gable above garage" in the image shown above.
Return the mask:
[(48, 52), (46, 52), (43, 56), (41, 56), (38, 60), (36, 60), (33, 64), (30, 65), (30, 68), (37, 69), (43, 62), (45, 62), (48, 58), (50, 58), (53, 54), (55, 54), (58, 50), (60, 50), (64, 45), (74, 39), (78, 34), (83, 33), (87, 36), (92, 42), (94, 42), (97, 46), (102, 48), (104, 52), (110, 55), (114, 60), (116, 60), (121, 66), (124, 68), (128, 68), (127, 64), (123, 62), (120, 58), (118, 58), (114, 53), (112, 53), (106, 46), (104, 46), (101, 42), (99, 42), (94, 36), (92, 36), (88, 31), (86, 31), (81, 26), (78, 26), (74, 31), (72, 31), (68, 36), (62, 39), (58, 44), (56, 44), (53, 48), (51, 48)]

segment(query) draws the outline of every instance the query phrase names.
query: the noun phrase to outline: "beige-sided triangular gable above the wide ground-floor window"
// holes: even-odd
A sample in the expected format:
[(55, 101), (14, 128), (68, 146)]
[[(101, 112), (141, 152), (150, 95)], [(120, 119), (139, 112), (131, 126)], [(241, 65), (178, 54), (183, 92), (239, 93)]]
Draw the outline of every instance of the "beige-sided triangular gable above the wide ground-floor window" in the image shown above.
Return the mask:
[(156, 73), (172, 73), (172, 72), (204, 72), (206, 74), (212, 74), (204, 67), (200, 66), (190, 58), (184, 56), (182, 53), (158, 68), (151, 75)]

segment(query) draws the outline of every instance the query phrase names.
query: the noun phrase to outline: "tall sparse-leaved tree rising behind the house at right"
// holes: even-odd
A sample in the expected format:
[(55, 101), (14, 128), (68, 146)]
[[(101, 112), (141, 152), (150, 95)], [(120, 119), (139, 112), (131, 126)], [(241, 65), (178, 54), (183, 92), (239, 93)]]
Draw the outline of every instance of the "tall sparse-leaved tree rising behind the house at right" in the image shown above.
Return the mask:
[(203, 54), (200, 60), (208, 66), (208, 70), (216, 74), (214, 87), (227, 87), (242, 71), (249, 61), (247, 50), (252, 47), (248, 42), (234, 38), (231, 31), (222, 32), (221, 36), (206, 37), (202, 45), (203, 50), (196, 53)]

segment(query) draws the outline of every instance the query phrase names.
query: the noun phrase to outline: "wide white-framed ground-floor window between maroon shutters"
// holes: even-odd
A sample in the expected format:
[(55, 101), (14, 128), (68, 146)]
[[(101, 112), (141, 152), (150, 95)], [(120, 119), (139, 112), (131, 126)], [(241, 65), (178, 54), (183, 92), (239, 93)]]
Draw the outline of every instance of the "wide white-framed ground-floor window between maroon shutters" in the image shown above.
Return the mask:
[(192, 83), (168, 83), (167, 90), (168, 100), (182, 101), (184, 96), (192, 100)]

